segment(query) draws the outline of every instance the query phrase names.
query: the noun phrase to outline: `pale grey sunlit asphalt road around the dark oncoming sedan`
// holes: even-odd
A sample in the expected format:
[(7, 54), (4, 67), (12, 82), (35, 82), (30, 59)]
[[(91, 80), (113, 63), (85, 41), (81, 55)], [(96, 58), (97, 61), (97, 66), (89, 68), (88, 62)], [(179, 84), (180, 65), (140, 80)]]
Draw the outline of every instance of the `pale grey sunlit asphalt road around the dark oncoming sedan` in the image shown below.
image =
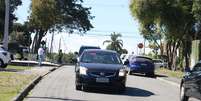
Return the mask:
[(129, 75), (122, 94), (102, 89), (76, 91), (74, 81), (74, 67), (61, 67), (37, 84), (25, 101), (179, 101), (178, 87), (155, 78)]

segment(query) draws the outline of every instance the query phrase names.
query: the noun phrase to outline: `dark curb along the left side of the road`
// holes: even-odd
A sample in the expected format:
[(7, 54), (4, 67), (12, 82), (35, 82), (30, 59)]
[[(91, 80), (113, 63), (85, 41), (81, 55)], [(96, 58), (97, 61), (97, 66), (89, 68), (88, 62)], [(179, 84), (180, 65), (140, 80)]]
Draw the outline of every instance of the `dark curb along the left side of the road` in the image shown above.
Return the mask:
[(22, 101), (29, 94), (29, 92), (42, 80), (44, 76), (48, 75), (49, 73), (55, 71), (58, 68), (59, 67), (52, 68), (49, 70), (49, 72), (45, 73), (44, 75), (38, 76), (30, 84), (28, 84), (22, 91), (20, 91), (20, 93), (15, 98), (13, 98), (12, 101)]

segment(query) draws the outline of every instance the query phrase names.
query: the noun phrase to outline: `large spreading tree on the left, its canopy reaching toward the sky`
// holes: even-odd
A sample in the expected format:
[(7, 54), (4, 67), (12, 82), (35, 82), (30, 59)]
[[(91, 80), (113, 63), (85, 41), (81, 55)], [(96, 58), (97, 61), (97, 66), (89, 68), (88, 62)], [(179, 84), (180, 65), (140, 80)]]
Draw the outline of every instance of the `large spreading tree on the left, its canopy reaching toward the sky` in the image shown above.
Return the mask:
[(41, 39), (49, 31), (86, 32), (93, 26), (90, 8), (81, 5), (82, 0), (32, 0), (30, 25), (36, 33), (33, 51), (37, 52)]

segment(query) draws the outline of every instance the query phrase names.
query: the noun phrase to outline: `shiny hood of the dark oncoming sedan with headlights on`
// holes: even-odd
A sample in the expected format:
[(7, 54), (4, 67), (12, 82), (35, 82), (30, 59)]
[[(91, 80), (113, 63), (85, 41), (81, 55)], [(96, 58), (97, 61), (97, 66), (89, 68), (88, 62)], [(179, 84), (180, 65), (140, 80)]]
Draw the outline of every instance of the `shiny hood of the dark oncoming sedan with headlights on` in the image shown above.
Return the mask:
[(89, 71), (118, 71), (124, 66), (122, 64), (98, 64), (98, 63), (80, 63), (80, 66), (86, 67)]

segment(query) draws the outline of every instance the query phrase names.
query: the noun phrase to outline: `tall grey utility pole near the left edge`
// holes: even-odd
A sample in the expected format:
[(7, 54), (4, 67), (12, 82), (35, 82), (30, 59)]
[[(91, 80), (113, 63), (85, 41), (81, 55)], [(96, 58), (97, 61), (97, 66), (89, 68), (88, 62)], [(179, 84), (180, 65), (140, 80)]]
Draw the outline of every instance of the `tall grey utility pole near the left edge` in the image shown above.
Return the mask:
[(4, 25), (3, 47), (6, 50), (8, 50), (10, 0), (5, 0), (5, 5), (6, 5), (6, 11), (5, 11), (5, 25)]

